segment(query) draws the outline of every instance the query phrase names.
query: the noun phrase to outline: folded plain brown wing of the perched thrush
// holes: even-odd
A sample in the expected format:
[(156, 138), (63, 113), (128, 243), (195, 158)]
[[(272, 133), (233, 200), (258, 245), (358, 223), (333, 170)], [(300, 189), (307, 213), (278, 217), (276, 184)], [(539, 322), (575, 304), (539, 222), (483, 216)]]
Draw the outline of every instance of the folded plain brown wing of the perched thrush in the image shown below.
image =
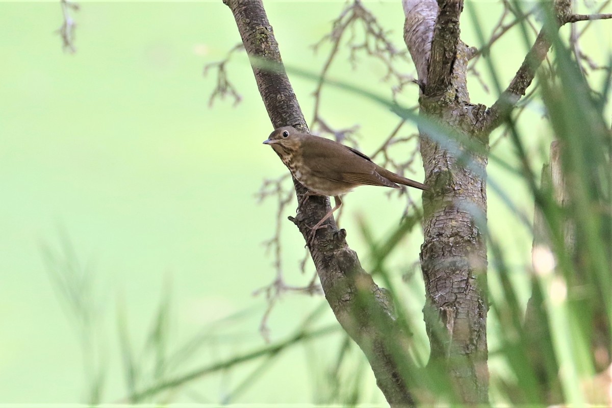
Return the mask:
[(329, 139), (318, 136), (303, 139), (302, 159), (318, 177), (351, 184), (399, 187), (378, 174), (376, 165), (365, 154)]

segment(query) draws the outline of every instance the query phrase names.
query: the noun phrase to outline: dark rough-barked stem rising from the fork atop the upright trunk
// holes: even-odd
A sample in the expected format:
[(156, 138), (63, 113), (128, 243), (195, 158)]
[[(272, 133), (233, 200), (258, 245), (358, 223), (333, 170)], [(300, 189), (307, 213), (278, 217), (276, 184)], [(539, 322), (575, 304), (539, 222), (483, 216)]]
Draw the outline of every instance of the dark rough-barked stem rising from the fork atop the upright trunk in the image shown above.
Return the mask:
[(463, 0), (438, 0), (438, 17), (433, 28), (425, 95), (442, 94), (452, 83), (460, 34), (459, 17), (462, 10)]

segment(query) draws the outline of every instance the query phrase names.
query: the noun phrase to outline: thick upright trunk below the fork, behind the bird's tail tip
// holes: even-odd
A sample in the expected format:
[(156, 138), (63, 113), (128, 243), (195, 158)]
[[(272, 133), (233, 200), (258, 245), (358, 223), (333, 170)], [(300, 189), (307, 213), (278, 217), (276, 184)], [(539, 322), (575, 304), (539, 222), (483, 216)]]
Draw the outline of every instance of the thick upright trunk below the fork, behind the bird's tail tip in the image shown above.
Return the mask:
[[(443, 107), (422, 103), (421, 108), (451, 127), (469, 124), (461, 103)], [(483, 177), (487, 157), (472, 154), (468, 169), (425, 134), (420, 150), (425, 183), (435, 186), (424, 195), (420, 254), (429, 309), (425, 324), (430, 365), (447, 366), (464, 402), (487, 402), (487, 245), (479, 228), (487, 217)]]

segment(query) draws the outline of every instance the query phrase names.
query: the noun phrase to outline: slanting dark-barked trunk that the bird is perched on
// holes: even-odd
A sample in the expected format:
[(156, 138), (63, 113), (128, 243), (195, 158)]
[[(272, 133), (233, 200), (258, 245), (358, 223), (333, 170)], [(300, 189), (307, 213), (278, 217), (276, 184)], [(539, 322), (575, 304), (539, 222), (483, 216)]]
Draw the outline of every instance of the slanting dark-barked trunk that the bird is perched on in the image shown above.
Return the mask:
[[(293, 125), (307, 131), (263, 4), (260, 0), (224, 2), (234, 14), (272, 125)], [(262, 59), (272, 62), (274, 69), (263, 68), (270, 64), (261, 64)], [(307, 190), (295, 179), (294, 185), (298, 199), (302, 198)], [(314, 242), (308, 241), (308, 226), (323, 218), (327, 210), (329, 200), (313, 196), (291, 219), (307, 241), (327, 302), (338, 322), (364, 351), (385, 398), (391, 406), (412, 406), (408, 384), (413, 371), (406, 351), (409, 336), (398, 327), (386, 291), (362, 269), (357, 254), (346, 244), (345, 230), (338, 231), (333, 218)]]

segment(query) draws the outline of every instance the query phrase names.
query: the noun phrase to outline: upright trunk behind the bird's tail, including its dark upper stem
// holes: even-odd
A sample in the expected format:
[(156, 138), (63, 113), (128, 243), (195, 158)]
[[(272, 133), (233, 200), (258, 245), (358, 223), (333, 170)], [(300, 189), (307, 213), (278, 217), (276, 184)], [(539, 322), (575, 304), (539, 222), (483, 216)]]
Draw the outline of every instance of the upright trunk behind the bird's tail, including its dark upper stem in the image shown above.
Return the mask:
[[(459, 40), (458, 25), (463, 3), (438, 1), (438, 6), (420, 113), (483, 144), (486, 152), (486, 110), (469, 103), (466, 87), (468, 48)], [(414, 20), (406, 15), (408, 29), (409, 18)], [(410, 35), (405, 39), (409, 49), (421, 46), (411, 43)], [(487, 246), (478, 226), (487, 217), (487, 156), (472, 152), (471, 166), (465, 166), (425, 132), (420, 134), (420, 152), (425, 184), (433, 187), (423, 196), (420, 253), (431, 345), (428, 366), (449, 372), (455, 395), (463, 402), (487, 403)]]

